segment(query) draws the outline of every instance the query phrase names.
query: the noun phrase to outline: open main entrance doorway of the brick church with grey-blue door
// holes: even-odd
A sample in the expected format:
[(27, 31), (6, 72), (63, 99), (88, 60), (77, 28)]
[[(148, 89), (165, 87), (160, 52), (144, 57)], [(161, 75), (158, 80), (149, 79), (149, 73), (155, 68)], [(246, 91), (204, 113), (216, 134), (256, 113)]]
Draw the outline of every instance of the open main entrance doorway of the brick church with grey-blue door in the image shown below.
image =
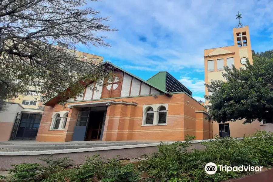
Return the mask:
[(72, 141), (102, 140), (107, 106), (85, 107), (78, 113)]

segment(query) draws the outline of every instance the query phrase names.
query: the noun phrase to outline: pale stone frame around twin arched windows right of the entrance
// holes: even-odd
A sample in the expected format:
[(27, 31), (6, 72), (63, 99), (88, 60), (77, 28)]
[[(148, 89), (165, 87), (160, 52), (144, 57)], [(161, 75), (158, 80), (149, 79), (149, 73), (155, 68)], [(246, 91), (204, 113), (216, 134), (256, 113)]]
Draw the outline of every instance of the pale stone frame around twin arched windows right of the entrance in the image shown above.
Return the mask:
[[(164, 124), (158, 124), (158, 111), (160, 109), (161, 106), (164, 106), (166, 108), (166, 112), (167, 112), (167, 117), (166, 117), (166, 123)], [(153, 124), (145, 124), (146, 123), (146, 112), (147, 109), (149, 109), (150, 107), (153, 108)], [(162, 125), (167, 125), (168, 123), (168, 104), (167, 103), (163, 103), (163, 104), (151, 104), (151, 105), (143, 105), (143, 115), (142, 115), (142, 125), (141, 126), (162, 126)]]

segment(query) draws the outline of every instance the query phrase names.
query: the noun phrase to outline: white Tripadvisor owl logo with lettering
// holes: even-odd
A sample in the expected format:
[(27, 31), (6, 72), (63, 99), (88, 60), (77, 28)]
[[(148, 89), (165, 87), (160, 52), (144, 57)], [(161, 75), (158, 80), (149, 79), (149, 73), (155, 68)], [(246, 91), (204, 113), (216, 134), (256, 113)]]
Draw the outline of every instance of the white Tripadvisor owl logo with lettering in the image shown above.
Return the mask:
[[(219, 170), (220, 171), (226, 171), (227, 173), (228, 172), (231, 172), (231, 171), (234, 171), (234, 172), (243, 172), (243, 171), (251, 171), (251, 172), (254, 172), (254, 171), (261, 171), (262, 170), (262, 166), (244, 166), (244, 165), (241, 165), (241, 166), (234, 166), (234, 167), (231, 167), (231, 166), (227, 166), (227, 165), (218, 165), (219, 166)], [(206, 164), (205, 166), (205, 171), (207, 174), (215, 174), (217, 172), (217, 166), (215, 163), (213, 162), (209, 162)]]

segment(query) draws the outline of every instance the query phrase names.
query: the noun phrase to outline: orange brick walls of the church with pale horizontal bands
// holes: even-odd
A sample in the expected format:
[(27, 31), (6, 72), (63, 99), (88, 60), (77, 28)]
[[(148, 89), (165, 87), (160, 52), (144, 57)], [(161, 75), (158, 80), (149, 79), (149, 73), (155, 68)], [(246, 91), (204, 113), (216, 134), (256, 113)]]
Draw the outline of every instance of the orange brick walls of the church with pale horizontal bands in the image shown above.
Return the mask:
[[(76, 103), (95, 103), (101, 101), (124, 101), (127, 103), (135, 102), (137, 106), (132, 104), (111, 104), (108, 106), (106, 121), (103, 131), (102, 140), (184, 140), (184, 136), (198, 135), (198, 138), (203, 139), (209, 136), (209, 124), (204, 120), (204, 114), (196, 114), (196, 110), (206, 110), (204, 106), (187, 94), (173, 94), (172, 97), (166, 95), (129, 97), (119, 99), (106, 99), (96, 101), (82, 101)], [(187, 102), (189, 101), (189, 102)], [(143, 116), (143, 105), (150, 104), (168, 104), (167, 125), (157, 126), (141, 126)], [(71, 104), (71, 103), (70, 103)], [(48, 107), (48, 106), (47, 106)], [(63, 107), (56, 105), (55, 107), (45, 108), (45, 115), (42, 117), (41, 123), (48, 123), (47, 127), (39, 128), (37, 141), (71, 141), (73, 136), (74, 126), (76, 125), (76, 117), (78, 109), (73, 107), (69, 110), (66, 129), (62, 130), (62, 136), (54, 135), (52, 131), (48, 131), (52, 120), (52, 113), (63, 111)], [(198, 122), (197, 122), (197, 119)], [(201, 123), (201, 124), (199, 124)], [(204, 126), (206, 123), (206, 126)], [(203, 126), (200, 128), (200, 126)], [(196, 128), (198, 128), (196, 131)], [(200, 125), (200, 126), (199, 126)], [(212, 128), (212, 126), (211, 126)], [(198, 134), (198, 132), (201, 134)], [(204, 131), (206, 133), (204, 134)], [(43, 134), (43, 135), (42, 135)], [(52, 134), (46, 136), (46, 134)], [(203, 137), (203, 138), (202, 138)]]

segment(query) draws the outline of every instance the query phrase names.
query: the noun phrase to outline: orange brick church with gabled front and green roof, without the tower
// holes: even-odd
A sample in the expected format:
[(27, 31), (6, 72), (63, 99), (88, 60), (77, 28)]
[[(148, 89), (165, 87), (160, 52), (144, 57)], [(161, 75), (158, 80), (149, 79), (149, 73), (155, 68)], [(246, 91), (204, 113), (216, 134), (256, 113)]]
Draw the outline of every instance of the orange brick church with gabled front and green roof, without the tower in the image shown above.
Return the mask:
[[(196, 140), (212, 138), (206, 108), (170, 73), (148, 80), (110, 63), (116, 73), (103, 84), (86, 86), (82, 97), (45, 103), (36, 141)], [(96, 88), (96, 89), (93, 89)]]

